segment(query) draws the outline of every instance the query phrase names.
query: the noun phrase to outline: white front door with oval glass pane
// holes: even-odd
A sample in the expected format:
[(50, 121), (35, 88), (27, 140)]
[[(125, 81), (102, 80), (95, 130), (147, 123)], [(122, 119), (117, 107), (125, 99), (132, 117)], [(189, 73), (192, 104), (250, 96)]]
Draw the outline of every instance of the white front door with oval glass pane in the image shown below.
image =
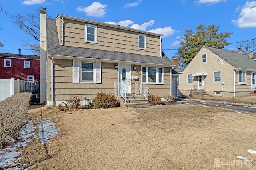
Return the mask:
[(123, 83), (127, 93), (131, 93), (131, 65), (118, 64), (119, 82)]

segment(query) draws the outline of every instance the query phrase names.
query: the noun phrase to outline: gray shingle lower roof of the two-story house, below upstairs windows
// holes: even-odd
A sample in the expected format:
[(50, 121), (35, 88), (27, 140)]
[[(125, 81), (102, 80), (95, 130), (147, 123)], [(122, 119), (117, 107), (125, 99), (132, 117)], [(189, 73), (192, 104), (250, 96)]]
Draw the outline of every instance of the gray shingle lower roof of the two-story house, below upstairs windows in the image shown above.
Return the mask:
[(99, 49), (89, 49), (81, 47), (60, 46), (58, 40), (57, 26), (53, 19), (46, 18), (47, 31), (47, 54), (63, 55), (70, 57), (92, 58), (102, 60), (126, 61), (131, 63), (150, 63), (156, 65), (175, 66), (174, 63), (162, 53), (162, 57), (149, 55), (138, 55), (131, 53), (121, 53), (114, 51), (105, 51)]

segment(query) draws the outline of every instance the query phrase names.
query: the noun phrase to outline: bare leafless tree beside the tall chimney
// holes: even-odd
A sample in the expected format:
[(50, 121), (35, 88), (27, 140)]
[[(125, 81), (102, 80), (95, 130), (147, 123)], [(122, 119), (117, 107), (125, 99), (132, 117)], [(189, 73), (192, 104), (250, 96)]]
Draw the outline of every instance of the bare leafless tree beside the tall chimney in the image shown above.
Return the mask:
[(30, 37), (36, 40), (33, 42), (31, 39), (21, 40), (26, 50), (32, 50), (34, 55), (40, 55), (40, 10), (37, 8), (35, 13), (22, 15), (17, 13), (15, 16), (18, 22), (13, 24)]

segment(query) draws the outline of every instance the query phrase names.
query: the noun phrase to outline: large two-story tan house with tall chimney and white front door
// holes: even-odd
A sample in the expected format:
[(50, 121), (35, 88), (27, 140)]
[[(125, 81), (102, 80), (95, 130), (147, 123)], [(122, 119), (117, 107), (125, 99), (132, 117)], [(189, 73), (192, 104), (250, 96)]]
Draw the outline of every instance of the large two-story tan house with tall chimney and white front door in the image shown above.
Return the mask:
[(62, 14), (54, 20), (42, 9), (40, 35), (40, 103), (56, 106), (70, 95), (94, 98), (101, 91), (177, 95), (161, 34)]

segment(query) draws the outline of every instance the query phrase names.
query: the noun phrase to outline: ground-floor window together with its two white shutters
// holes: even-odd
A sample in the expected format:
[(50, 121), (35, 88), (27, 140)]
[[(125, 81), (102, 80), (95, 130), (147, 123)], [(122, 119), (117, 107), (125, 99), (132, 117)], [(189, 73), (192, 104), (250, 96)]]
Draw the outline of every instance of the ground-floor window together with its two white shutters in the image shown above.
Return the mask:
[(73, 83), (101, 83), (101, 62), (73, 60)]

